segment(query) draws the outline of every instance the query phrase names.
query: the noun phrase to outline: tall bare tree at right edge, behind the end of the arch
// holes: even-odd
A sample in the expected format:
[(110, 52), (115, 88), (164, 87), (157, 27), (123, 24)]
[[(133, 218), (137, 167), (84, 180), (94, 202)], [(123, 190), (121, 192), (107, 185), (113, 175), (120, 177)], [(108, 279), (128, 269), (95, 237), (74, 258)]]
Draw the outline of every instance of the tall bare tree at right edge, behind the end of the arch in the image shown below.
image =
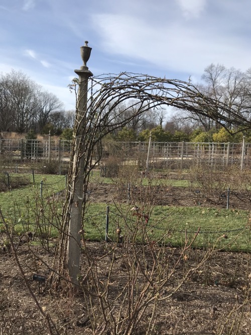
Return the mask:
[[(176, 120), (189, 121), (195, 127), (203, 127), (206, 132), (212, 128), (225, 127), (229, 132), (241, 131), (242, 125), (234, 122), (234, 115), (250, 120), (250, 70), (241, 72), (234, 68), (227, 69), (223, 65), (210, 64), (205, 68), (198, 90), (212, 99), (225, 105), (225, 110), (218, 113), (218, 119), (211, 118), (210, 113), (201, 114), (194, 110), (176, 113)], [(229, 114), (228, 111), (229, 110)], [(235, 129), (234, 129), (235, 127)], [(238, 129), (236, 129), (238, 127)]]

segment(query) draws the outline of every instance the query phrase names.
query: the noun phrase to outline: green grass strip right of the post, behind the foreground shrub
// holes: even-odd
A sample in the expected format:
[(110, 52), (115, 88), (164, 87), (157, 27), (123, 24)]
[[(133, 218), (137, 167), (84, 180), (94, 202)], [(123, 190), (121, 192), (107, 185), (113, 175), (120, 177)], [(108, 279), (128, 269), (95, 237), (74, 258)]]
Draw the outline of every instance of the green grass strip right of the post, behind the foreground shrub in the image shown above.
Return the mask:
[[(87, 239), (104, 239), (105, 212), (106, 204), (104, 203), (93, 203), (89, 206), (84, 223)], [(124, 205), (119, 212), (114, 206), (110, 206), (109, 236), (111, 239), (116, 238), (115, 230), (117, 226), (122, 228), (123, 234), (125, 217), (127, 225), (133, 229), (137, 224), (137, 217), (132, 216), (130, 208)], [(247, 221), (248, 211), (246, 210), (203, 208), (199, 206), (156, 206), (146, 227), (151, 240), (161, 240), (173, 247), (184, 244), (185, 230), (187, 231), (187, 238), (191, 241), (200, 228), (200, 233), (193, 244), (194, 248), (212, 247), (218, 241), (216, 248), (247, 252), (250, 242), (249, 230), (245, 229)], [(223, 235), (226, 235), (227, 238), (223, 238)]]

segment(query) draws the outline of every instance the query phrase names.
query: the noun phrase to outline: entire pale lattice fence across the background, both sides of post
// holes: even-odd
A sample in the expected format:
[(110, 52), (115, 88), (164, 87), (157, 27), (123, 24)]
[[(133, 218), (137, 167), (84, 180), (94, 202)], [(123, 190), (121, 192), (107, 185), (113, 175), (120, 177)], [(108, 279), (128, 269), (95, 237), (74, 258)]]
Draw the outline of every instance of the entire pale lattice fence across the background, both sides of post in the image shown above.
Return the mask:
[[(249, 168), (251, 144), (245, 143), (191, 143), (191, 142), (104, 142), (100, 163), (109, 157), (119, 157), (124, 164), (146, 166), (149, 150), (150, 167), (186, 169), (191, 165), (203, 165), (224, 169), (229, 166)], [(0, 139), (0, 159), (32, 161), (56, 160), (69, 162), (71, 143), (65, 140), (11, 140)], [(96, 157), (95, 157), (96, 155)], [(93, 160), (98, 153), (94, 149)]]

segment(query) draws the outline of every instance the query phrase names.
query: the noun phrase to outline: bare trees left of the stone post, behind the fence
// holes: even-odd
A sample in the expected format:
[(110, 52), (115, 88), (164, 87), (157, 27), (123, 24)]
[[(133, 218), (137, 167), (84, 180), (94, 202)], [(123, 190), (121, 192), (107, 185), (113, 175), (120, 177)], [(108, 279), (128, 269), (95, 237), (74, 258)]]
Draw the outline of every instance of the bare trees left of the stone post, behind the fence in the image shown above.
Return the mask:
[(60, 134), (73, 126), (75, 111), (22, 71), (0, 74), (0, 131)]

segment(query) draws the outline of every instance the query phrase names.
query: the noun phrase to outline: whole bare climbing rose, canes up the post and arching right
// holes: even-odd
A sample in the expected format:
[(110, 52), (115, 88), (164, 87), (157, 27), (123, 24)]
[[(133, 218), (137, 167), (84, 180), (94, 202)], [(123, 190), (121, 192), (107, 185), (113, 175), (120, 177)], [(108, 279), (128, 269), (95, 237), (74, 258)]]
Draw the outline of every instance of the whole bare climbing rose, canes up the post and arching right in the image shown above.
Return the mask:
[[(82, 131), (80, 130), (78, 143), (84, 143), (85, 146), (84, 170), (79, 171), (81, 154), (77, 155), (77, 159), (75, 156), (74, 159), (75, 153), (72, 151), (68, 174), (69, 183), (58, 243), (59, 267), (57, 271), (62, 270), (66, 264), (66, 240), (71, 208), (74, 206), (74, 180), (79, 173), (83, 173), (83, 192), (86, 193), (90, 171), (101, 159), (101, 143), (105, 135), (126, 126), (132, 119), (158, 106), (173, 106), (188, 110), (194, 114), (209, 117), (223, 127), (230, 123), (239, 129), (250, 128), (250, 122), (238, 113), (237, 108), (229, 108), (223, 102), (204, 95), (200, 87), (191, 82), (127, 72), (102, 74), (91, 77), (88, 81), (87, 103), (83, 108), (84, 113), (83, 110), (76, 112), (72, 142), (72, 147), (76, 148), (74, 134), (79, 134), (79, 127), (83, 127)], [(70, 85), (70, 88), (76, 93), (76, 99), (78, 84), (78, 79), (75, 79)], [(98, 148), (99, 155), (95, 157), (93, 163), (94, 147)], [(84, 208), (85, 201), (83, 200), (82, 215), (84, 215)]]

